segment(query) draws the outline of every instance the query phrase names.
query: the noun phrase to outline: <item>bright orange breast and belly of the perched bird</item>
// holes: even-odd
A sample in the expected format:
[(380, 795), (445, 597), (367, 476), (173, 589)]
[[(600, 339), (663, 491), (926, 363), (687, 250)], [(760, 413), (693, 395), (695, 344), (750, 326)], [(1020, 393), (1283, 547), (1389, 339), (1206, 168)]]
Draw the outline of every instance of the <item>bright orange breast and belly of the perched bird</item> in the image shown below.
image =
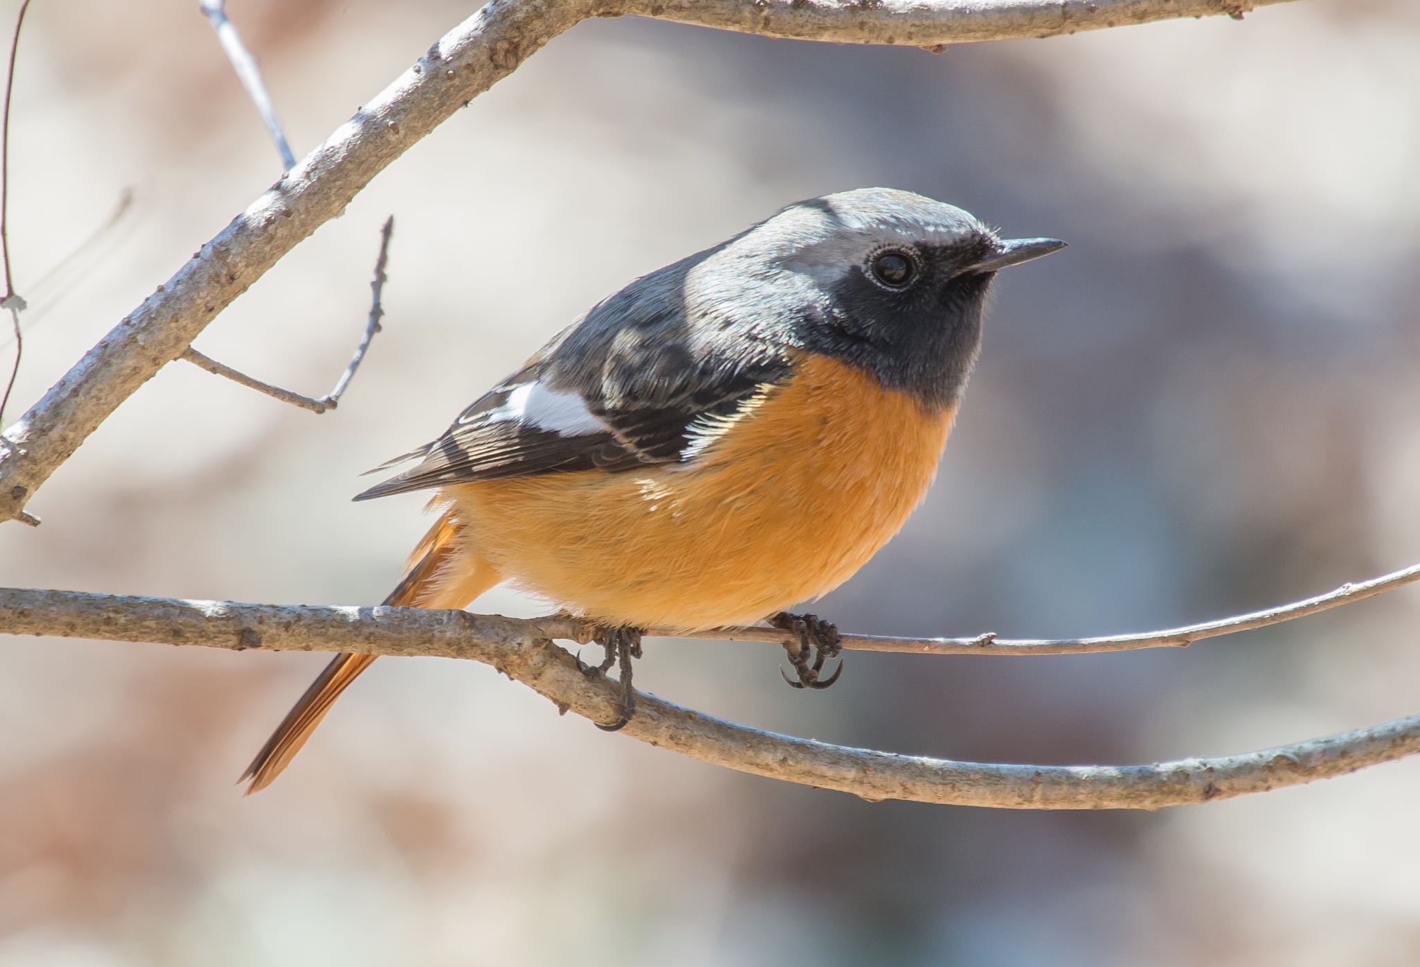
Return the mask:
[(832, 591), (922, 501), (951, 410), (825, 356), (689, 464), (459, 484), (467, 554), (616, 625), (758, 621)]

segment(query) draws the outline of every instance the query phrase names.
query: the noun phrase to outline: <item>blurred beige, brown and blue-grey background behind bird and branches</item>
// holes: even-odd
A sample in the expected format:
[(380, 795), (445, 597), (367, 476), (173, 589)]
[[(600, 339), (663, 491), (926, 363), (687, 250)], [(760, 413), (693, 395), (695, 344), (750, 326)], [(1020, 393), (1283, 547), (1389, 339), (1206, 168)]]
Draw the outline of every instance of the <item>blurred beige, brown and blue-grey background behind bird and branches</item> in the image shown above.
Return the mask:
[[(470, 11), (230, 4), (297, 155)], [(863, 185), (1071, 248), (1001, 278), (927, 504), (822, 613), (1103, 635), (1403, 567), (1420, 559), (1417, 91), (1406, 0), (943, 55), (582, 24), (196, 342), (324, 393), (393, 212), (385, 332), (339, 412), (168, 366), (33, 500), (41, 528), (4, 528), (0, 582), (373, 603), (426, 520), (419, 496), (351, 504), (361, 471), (632, 277)], [(196, 3), (36, 4), (7, 422), (278, 173)], [(851, 655), (826, 693), (784, 687), (774, 648), (657, 640), (636, 680), (836, 743), (1146, 763), (1414, 713), (1417, 628), (1406, 589), (1179, 652)], [(606, 736), (488, 667), (386, 659), (241, 798), (324, 662), (0, 642), (0, 964), (1420, 963), (1420, 761), (1160, 814), (875, 805)]]

